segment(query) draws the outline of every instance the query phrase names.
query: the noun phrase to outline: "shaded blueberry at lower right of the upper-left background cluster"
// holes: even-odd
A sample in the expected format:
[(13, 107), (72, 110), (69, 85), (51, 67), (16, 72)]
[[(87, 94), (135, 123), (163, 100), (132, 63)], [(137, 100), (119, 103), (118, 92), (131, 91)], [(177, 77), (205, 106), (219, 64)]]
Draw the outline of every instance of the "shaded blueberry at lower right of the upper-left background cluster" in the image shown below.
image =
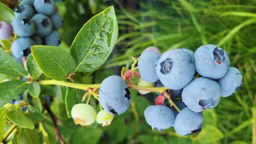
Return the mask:
[(58, 31), (53, 31), (45, 38), (46, 45), (59, 46), (61, 44), (61, 36)]

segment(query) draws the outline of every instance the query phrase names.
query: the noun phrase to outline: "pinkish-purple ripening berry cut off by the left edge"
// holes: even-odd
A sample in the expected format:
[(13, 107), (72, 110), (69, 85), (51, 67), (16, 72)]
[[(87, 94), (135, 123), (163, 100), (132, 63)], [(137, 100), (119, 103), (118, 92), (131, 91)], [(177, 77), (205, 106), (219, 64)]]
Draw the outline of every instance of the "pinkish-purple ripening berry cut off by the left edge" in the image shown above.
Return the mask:
[(0, 22), (0, 39), (9, 39), (13, 34), (13, 27), (6, 21)]

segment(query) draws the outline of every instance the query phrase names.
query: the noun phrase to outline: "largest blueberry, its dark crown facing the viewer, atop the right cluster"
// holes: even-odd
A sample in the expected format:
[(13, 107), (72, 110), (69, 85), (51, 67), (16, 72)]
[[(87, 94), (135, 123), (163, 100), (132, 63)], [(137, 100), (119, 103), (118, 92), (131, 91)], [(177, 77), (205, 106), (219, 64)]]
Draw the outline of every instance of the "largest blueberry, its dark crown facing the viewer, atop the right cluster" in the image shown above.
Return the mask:
[(183, 88), (195, 74), (194, 53), (187, 49), (166, 51), (156, 64), (156, 74), (165, 87)]

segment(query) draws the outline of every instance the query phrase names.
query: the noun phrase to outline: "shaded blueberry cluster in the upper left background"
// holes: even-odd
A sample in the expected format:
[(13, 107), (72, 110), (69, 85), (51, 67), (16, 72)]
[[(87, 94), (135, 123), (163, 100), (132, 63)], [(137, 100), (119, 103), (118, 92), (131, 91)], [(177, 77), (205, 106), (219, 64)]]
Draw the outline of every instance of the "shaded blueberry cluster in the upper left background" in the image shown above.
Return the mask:
[(22, 0), (14, 10), (13, 30), (20, 38), (11, 45), (12, 55), (21, 62), (32, 45), (59, 46), (61, 36), (57, 30), (63, 20), (53, 0)]

